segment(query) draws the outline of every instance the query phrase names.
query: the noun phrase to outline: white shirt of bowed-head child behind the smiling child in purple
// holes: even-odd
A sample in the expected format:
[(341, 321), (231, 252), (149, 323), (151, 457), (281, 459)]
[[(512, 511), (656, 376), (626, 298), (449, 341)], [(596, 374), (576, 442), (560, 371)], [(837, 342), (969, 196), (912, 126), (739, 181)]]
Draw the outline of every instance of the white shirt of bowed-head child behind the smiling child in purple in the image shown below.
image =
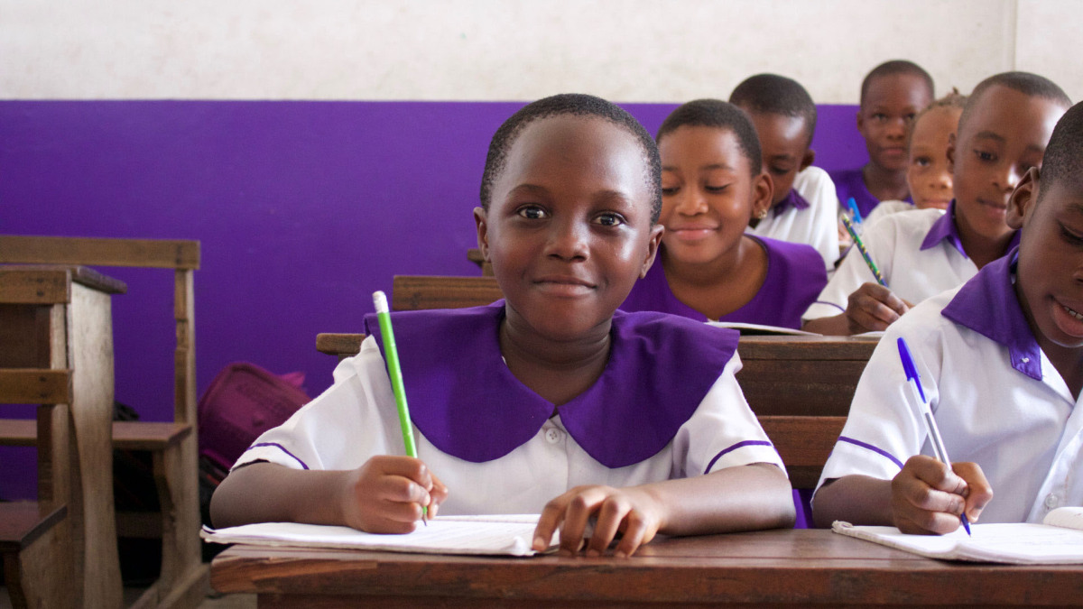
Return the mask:
[(833, 271), (838, 260), (838, 196), (835, 195), (835, 184), (823, 169), (806, 167), (794, 179), (793, 191), (801, 198), (780, 202), (767, 212), (767, 218), (747, 232), (811, 245), (823, 257), (824, 268)]

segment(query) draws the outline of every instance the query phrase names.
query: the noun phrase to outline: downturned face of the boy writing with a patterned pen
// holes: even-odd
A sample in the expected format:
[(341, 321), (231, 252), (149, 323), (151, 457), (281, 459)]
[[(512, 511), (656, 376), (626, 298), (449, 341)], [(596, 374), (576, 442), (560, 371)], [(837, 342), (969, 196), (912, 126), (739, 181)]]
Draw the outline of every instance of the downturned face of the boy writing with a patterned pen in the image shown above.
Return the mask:
[(1010, 231), (1008, 197), (1045, 146), (1065, 108), (1056, 101), (994, 85), (970, 101), (966, 120), (949, 146), (961, 230), (987, 239)]

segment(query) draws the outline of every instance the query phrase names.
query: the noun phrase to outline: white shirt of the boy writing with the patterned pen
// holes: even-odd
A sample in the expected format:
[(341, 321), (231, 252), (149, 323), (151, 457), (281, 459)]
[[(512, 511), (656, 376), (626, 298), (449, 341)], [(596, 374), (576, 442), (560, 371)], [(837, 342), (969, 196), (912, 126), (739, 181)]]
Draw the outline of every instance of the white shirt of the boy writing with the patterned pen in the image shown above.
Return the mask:
[[(953, 206), (947, 213), (939, 209), (892, 213), (865, 226), (861, 235), (865, 249), (899, 298), (917, 304), (977, 274), (978, 267), (963, 250)], [(814, 320), (845, 312), (850, 294), (864, 283), (876, 283), (876, 277), (861, 252), (851, 248), (801, 318)]]

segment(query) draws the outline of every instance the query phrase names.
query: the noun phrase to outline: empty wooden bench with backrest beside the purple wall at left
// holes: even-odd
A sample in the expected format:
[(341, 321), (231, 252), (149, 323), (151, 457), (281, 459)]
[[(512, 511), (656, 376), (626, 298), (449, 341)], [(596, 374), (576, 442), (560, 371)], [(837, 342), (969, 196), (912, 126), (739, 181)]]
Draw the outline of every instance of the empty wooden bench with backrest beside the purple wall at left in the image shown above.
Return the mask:
[[(0, 263), (87, 264), (173, 270), (173, 422), (115, 423), (113, 445), (153, 455), (161, 505), (161, 572), (136, 607), (196, 607), (203, 599), (208, 568), (199, 540), (196, 438), (195, 321), (193, 272), (199, 268), (194, 241), (79, 238), (0, 235)], [(25, 423), (0, 422), (0, 443), (36, 441)], [(37, 433), (40, 437), (40, 431)], [(118, 515), (118, 529), (131, 529), (136, 516)]]

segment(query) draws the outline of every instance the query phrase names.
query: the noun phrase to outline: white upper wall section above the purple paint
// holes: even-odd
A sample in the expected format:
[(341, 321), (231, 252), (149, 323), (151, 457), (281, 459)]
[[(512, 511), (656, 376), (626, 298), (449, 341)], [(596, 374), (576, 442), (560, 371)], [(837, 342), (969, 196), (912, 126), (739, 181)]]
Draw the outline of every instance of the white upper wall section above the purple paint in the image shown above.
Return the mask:
[(773, 72), (857, 103), (905, 57), (1074, 100), (1081, 30), (1079, 0), (0, 0), (0, 99), (683, 102)]

